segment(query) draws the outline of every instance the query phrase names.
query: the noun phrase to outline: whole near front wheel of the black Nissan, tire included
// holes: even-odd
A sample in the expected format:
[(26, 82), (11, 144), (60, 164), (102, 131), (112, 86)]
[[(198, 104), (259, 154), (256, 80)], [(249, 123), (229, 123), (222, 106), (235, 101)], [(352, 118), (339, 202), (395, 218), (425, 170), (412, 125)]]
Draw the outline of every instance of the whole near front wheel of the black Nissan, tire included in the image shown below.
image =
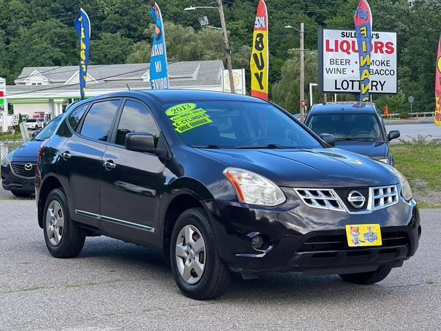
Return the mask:
[[(188, 228), (191, 231), (185, 232)], [(185, 239), (189, 237), (186, 234), (191, 237), (189, 242)], [(178, 243), (181, 249), (177, 249)], [(220, 260), (214, 230), (203, 208), (186, 210), (178, 217), (170, 245), (170, 261), (174, 279), (185, 296), (196, 300), (208, 300), (220, 297), (225, 292), (229, 285), (230, 271)], [(202, 245), (203, 248), (201, 248)]]

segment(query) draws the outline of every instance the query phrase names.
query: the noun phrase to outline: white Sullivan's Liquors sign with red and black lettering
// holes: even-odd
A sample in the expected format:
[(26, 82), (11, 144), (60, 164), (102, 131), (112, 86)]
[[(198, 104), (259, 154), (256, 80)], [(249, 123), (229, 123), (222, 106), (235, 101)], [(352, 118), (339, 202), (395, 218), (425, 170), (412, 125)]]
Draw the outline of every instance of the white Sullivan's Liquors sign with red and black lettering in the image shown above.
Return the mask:
[[(321, 30), (318, 34), (319, 89), (325, 93), (360, 92), (358, 46), (354, 30)], [(371, 93), (396, 94), (396, 32), (372, 32)]]

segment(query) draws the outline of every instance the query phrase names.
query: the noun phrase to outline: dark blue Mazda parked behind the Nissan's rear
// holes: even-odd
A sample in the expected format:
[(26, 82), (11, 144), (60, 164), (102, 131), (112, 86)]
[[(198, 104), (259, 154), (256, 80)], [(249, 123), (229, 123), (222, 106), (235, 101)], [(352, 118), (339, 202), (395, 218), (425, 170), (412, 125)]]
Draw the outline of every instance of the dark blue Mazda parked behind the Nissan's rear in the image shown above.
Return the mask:
[(16, 197), (30, 197), (35, 193), (35, 170), (37, 154), (41, 143), (48, 139), (57, 128), (63, 115), (56, 117), (42, 130), (34, 134), (17, 150), (6, 155), (1, 163), (1, 185)]

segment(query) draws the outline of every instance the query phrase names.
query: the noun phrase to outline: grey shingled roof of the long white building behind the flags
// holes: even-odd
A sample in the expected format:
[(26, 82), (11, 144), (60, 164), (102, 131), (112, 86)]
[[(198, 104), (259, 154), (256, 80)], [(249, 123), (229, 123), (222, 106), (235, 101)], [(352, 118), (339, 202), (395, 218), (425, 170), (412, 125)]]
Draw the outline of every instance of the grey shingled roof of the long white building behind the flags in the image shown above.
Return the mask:
[[(216, 89), (222, 85), (223, 62), (183, 61), (168, 64), (170, 88)], [(89, 66), (86, 96), (119, 92), (121, 90), (150, 89), (150, 63)], [(28, 77), (43, 76), (50, 85), (7, 86), (8, 99), (77, 98), (79, 97), (78, 66), (26, 67), (15, 83), (23, 84)], [(40, 76), (41, 75), (41, 76)], [(75, 80), (75, 83), (70, 83)], [(128, 86), (128, 87), (127, 87)]]

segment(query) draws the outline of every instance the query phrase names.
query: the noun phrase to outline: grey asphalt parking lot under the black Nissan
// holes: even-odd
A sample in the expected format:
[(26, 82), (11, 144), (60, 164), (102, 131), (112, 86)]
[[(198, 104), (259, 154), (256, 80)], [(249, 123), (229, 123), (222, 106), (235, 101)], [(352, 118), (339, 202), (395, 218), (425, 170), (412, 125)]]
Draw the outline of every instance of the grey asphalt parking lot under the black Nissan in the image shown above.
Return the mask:
[(154, 250), (96, 237), (76, 259), (50, 257), (35, 201), (0, 189), (0, 330), (440, 330), (440, 212), (422, 210), (420, 250), (382, 283), (234, 277), (194, 301)]

